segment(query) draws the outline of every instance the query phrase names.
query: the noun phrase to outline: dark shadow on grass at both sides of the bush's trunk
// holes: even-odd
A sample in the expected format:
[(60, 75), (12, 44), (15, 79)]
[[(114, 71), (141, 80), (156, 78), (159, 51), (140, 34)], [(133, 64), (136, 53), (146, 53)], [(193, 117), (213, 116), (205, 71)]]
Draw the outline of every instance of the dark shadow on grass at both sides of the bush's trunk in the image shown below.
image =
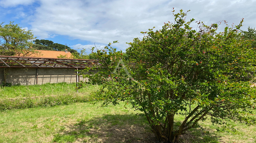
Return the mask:
[[(77, 120), (55, 134), (53, 142), (160, 143), (146, 118), (134, 114), (105, 114), (89, 121)], [(182, 135), (180, 143), (218, 143), (218, 137), (197, 128)]]

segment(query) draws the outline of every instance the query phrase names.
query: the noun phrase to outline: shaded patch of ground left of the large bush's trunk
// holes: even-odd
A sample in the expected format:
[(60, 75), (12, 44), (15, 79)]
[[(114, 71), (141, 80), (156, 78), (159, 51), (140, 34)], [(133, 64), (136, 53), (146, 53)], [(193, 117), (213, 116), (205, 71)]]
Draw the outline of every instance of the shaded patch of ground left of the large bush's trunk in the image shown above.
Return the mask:
[[(116, 115), (105, 115), (88, 122), (83, 120), (69, 125), (60, 134), (85, 134), (76, 139), (75, 143), (159, 143), (154, 134), (145, 129), (143, 124), (129, 124), (126, 121), (112, 120)], [(120, 115), (131, 118), (134, 115)], [(129, 116), (129, 117), (128, 117)]]

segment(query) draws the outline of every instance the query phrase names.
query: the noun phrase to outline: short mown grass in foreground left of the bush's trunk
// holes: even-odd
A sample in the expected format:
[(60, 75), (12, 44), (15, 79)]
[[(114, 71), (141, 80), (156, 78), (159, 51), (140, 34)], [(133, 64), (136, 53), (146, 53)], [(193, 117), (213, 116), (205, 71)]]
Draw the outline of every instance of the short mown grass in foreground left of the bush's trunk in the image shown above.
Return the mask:
[(107, 143), (153, 137), (145, 117), (137, 116), (138, 112), (129, 111), (129, 107), (126, 109), (124, 105), (98, 108), (100, 103), (85, 102), (2, 111), (0, 142)]

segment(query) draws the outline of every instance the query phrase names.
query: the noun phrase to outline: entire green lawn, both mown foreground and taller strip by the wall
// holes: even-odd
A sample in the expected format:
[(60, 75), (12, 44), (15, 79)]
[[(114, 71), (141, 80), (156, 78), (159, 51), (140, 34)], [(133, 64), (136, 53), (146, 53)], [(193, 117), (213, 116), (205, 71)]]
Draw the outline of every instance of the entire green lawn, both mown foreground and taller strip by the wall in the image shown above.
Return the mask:
[[(54, 88), (57, 86), (59, 88)], [(124, 108), (124, 103), (118, 106), (99, 107), (100, 103), (94, 105), (88, 100), (90, 99), (89, 92), (96, 90), (97, 87), (88, 87), (87, 89), (80, 90), (79, 93), (76, 93), (74, 87), (75, 84), (66, 83), (35, 87), (2, 87), (0, 89), (0, 101), (13, 102), (23, 100), (24, 103), (21, 107), (24, 109), (13, 107), (11, 108), (12, 110), (0, 110), (0, 143), (157, 143), (146, 118), (136, 115), (140, 112), (130, 109), (130, 105), (126, 105), (127, 108)], [(11, 90), (11, 88), (14, 88), (16, 91)], [(27, 90), (24, 90), (24, 88)], [(47, 88), (47, 90), (44, 88)], [(40, 89), (42, 89), (42, 92), (39, 92), (41, 91)], [(20, 91), (20, 94), (12, 95), (10, 93), (15, 93), (17, 90)], [(10, 97), (3, 96), (4, 93)], [(60, 99), (57, 100), (59, 97), (62, 97), (61, 101), (65, 100), (66, 97), (67, 100), (73, 98), (77, 98), (77, 100), (69, 103), (62, 101), (62, 104), (50, 104), (50, 102), (54, 101), (60, 102)], [(44, 99), (44, 101), (48, 99), (48, 106), (32, 106), (34, 101), (41, 101), (41, 99)], [(32, 108), (24, 106), (25, 104), (31, 104)], [(8, 105), (10, 106), (11, 104), (8, 103)], [(252, 116), (255, 116), (256, 110), (253, 113)], [(175, 116), (175, 124), (177, 126), (182, 121), (182, 118), (180, 115)], [(209, 121), (201, 122), (200, 126), (182, 135), (180, 142), (256, 142), (255, 126), (246, 126), (234, 122), (230, 122), (230, 124), (230, 127), (222, 130), (221, 126), (212, 125)]]

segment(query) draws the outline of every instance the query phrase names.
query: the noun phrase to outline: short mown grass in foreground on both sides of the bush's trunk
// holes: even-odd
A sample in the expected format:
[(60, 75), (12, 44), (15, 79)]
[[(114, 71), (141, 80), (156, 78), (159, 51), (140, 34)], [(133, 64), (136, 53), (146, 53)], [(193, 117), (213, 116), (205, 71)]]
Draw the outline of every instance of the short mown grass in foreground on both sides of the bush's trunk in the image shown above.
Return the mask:
[[(0, 113), (0, 142), (149, 142), (154, 134), (138, 111), (118, 106), (99, 107), (89, 102), (71, 105), (6, 110)], [(98, 108), (99, 107), (99, 108)], [(256, 111), (254, 111), (256, 113)], [(181, 116), (176, 116), (179, 125)], [(254, 143), (256, 127), (233, 123), (232, 130), (201, 122), (181, 137), (184, 143)]]

